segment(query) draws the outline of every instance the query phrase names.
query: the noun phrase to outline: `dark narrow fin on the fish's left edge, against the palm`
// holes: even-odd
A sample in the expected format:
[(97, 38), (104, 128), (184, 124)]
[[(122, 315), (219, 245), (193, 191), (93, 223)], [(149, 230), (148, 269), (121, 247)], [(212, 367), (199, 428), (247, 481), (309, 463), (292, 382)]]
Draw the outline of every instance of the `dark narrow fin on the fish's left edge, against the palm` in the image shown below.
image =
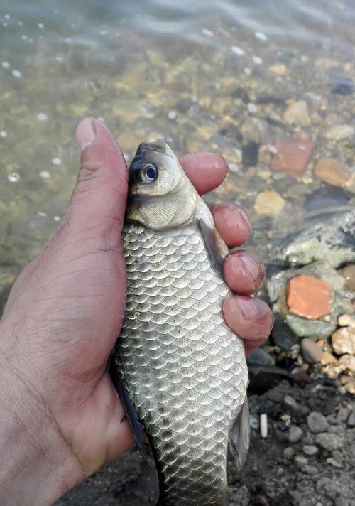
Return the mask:
[[(122, 406), (124, 407), (124, 412), (126, 413), (126, 419), (129, 422), (129, 426), (131, 427), (131, 431), (133, 434), (133, 438), (136, 441), (136, 445), (141, 452), (142, 457), (146, 457), (146, 446), (144, 444), (144, 427), (141, 420), (138, 418), (138, 414), (136, 408), (134, 407), (133, 402), (129, 398), (129, 394), (124, 386), (124, 382), (122, 381), (121, 376), (117, 370), (116, 364), (114, 362), (114, 354), (111, 353), (109, 357), (109, 362), (107, 364), (107, 371), (111, 377), (112, 383), (114, 384), (114, 389), (116, 390), (119, 398), (121, 399)], [(124, 421), (122, 419), (120, 422)]]

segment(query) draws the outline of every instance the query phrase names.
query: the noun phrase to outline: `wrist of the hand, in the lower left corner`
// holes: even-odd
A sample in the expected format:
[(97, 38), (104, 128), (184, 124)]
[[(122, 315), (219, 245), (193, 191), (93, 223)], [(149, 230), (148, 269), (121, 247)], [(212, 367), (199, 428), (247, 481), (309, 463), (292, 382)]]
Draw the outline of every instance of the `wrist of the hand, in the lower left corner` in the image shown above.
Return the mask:
[(1, 363), (0, 504), (45, 506), (84, 478), (45, 402)]

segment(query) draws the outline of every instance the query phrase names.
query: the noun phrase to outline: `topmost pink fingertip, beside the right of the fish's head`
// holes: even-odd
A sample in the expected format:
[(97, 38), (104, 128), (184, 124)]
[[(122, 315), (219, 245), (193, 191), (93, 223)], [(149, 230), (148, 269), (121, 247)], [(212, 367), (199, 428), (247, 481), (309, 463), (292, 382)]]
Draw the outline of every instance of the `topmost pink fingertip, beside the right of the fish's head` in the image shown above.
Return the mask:
[(228, 173), (222, 156), (215, 153), (191, 153), (180, 157), (186, 176), (200, 195), (217, 188)]

